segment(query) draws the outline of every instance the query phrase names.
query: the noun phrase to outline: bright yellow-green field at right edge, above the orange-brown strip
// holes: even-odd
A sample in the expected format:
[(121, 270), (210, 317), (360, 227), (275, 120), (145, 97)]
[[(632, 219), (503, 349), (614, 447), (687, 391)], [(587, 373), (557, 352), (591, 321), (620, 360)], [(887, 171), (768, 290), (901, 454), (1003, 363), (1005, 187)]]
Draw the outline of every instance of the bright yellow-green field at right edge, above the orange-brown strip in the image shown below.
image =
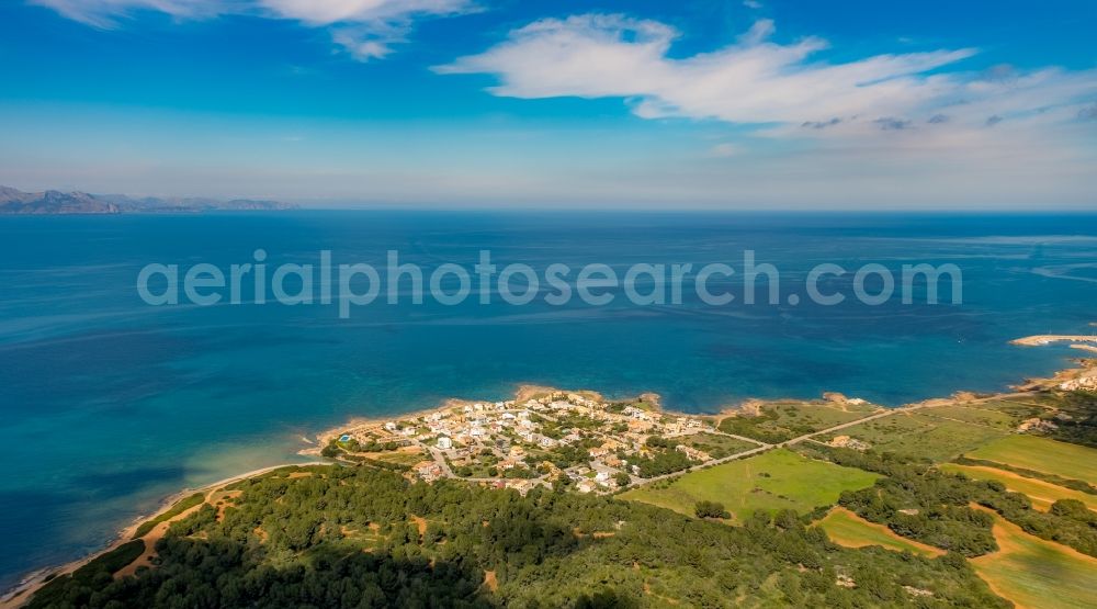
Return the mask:
[(968, 456), (1097, 484), (1097, 450), (1047, 438), (1013, 435)]

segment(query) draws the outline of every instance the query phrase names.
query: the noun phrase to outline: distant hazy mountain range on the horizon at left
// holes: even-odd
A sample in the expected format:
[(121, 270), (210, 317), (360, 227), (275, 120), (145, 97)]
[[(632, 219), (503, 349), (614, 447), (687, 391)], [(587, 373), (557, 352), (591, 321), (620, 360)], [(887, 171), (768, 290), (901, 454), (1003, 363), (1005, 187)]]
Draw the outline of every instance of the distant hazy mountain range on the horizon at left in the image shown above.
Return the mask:
[(234, 199), (218, 201), (202, 198), (144, 196), (124, 194), (88, 194), (87, 192), (23, 192), (0, 187), (0, 214), (157, 214), (211, 211), (293, 210), (296, 205), (279, 201)]

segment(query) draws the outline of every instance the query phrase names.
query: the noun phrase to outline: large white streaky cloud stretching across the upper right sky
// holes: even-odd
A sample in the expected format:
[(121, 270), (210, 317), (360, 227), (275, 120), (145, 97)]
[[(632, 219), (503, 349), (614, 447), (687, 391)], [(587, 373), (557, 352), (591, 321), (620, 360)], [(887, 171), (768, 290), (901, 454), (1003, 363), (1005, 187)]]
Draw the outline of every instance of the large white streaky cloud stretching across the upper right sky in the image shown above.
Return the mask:
[[(603, 14), (545, 19), (512, 31), (479, 55), (436, 70), (495, 75), (499, 84), (489, 91), (501, 97), (623, 98), (646, 119), (796, 128), (833, 123), (830, 128), (810, 129), (816, 137), (863, 131), (866, 125), (879, 131), (907, 121), (921, 128), (942, 112), (951, 119), (949, 128), (1068, 104), (1077, 104), (1077, 112), (1087, 94), (1097, 93), (1094, 70), (941, 71), (974, 56), (971, 48), (829, 64), (813, 59), (827, 48), (825, 41), (806, 37), (779, 44), (770, 42), (773, 31), (771, 21), (759, 20), (733, 45), (671, 58), (668, 52), (678, 33), (655, 21)], [(884, 119), (892, 122), (877, 122)]]

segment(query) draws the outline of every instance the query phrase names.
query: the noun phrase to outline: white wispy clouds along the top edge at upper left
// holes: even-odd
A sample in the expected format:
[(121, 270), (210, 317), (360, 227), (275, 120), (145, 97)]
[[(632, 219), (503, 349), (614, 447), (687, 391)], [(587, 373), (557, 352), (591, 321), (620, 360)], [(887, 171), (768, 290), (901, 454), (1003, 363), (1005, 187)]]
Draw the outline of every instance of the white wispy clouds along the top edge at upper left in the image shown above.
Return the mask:
[(174, 19), (250, 14), (326, 27), (331, 40), (359, 60), (381, 58), (406, 41), (416, 19), (446, 16), (472, 9), (470, 0), (31, 0), (102, 29), (139, 11)]

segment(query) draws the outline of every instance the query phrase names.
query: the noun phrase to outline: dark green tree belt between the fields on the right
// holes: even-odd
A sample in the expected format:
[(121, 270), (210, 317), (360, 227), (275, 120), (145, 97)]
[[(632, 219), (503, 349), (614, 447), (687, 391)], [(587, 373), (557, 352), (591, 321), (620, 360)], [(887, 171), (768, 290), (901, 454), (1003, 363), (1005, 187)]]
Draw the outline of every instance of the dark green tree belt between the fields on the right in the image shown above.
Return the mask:
[(993, 518), (970, 507), (977, 504), (1028, 533), (1097, 556), (1097, 515), (1072, 509), (1074, 503), (1042, 512), (1032, 508), (1028, 497), (1006, 490), (998, 482), (948, 474), (891, 453), (824, 447), (800, 450), (887, 476), (870, 488), (842, 493), (838, 503), (901, 535), (965, 556), (992, 552), (997, 549), (991, 531)]

